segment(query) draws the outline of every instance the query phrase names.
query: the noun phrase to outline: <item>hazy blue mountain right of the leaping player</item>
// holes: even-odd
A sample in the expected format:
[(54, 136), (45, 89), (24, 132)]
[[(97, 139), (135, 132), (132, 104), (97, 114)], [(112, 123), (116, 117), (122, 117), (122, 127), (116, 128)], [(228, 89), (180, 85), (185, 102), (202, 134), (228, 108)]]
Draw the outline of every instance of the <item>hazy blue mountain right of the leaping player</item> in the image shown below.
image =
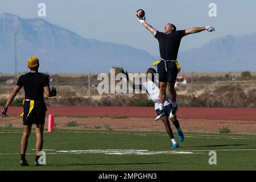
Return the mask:
[(256, 71), (256, 32), (213, 39), (201, 48), (180, 52), (179, 60), (182, 72)]

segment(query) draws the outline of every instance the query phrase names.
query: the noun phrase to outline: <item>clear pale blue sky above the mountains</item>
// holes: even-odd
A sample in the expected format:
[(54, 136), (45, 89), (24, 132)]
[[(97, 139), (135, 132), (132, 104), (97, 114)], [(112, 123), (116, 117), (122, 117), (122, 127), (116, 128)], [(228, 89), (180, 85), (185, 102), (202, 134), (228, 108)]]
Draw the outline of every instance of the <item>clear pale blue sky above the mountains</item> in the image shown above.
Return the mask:
[[(166, 23), (177, 29), (212, 25), (213, 33), (189, 35), (180, 51), (201, 47), (209, 40), (228, 34), (256, 32), (256, 1), (233, 0), (1, 0), (0, 14), (11, 13), (22, 18), (38, 18), (38, 3), (47, 6), (48, 22), (76, 32), (84, 38), (126, 44), (158, 56), (158, 43), (135, 17), (137, 9), (146, 11), (146, 20), (163, 31)], [(216, 3), (217, 17), (209, 17), (209, 3)]]

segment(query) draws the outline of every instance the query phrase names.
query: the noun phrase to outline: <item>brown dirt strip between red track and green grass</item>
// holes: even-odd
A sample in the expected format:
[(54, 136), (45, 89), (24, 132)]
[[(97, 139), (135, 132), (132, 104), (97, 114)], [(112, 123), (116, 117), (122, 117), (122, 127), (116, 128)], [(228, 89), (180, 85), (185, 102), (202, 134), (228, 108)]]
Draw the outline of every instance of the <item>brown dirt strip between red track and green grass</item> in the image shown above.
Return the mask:
[[(8, 117), (0, 119), (0, 127), (22, 127), (22, 118)], [(46, 118), (46, 128), (48, 127)], [(212, 119), (179, 119), (181, 129), (192, 133), (219, 133), (222, 127), (228, 127), (231, 133), (256, 134), (255, 121), (212, 120)], [(78, 126), (68, 126), (69, 122)], [(11, 124), (10, 124), (11, 123)], [(174, 126), (172, 129), (174, 129)], [(133, 117), (55, 117), (57, 129), (114, 130), (114, 131), (166, 131), (162, 121), (154, 118)]]

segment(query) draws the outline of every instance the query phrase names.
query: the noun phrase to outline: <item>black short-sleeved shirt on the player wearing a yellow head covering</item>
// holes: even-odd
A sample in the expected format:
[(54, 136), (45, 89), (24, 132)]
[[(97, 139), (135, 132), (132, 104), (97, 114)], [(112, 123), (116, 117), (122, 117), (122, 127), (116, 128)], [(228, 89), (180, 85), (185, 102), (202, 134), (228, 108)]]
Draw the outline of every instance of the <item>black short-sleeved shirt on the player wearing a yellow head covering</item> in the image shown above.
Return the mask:
[(49, 78), (43, 73), (30, 72), (20, 76), (16, 85), (24, 87), (26, 99), (43, 101), (44, 86), (49, 86)]

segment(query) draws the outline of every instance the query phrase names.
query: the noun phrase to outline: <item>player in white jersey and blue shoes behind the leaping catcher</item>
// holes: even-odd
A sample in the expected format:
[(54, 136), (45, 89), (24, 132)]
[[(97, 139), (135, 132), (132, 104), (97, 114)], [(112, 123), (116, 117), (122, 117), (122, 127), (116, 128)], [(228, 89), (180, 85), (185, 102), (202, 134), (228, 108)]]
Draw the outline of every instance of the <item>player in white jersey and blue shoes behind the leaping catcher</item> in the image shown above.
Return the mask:
[[(155, 82), (157, 82), (156, 80), (154, 80), (154, 74), (156, 74), (156, 71), (154, 68), (149, 68), (147, 70), (147, 76), (151, 75), (151, 79), (149, 81), (146, 82), (142, 82), (139, 85), (134, 85), (133, 81), (130, 80), (127, 71), (123, 71), (122, 73), (125, 74), (127, 81), (129, 82), (129, 85), (135, 90), (135, 88), (138, 88), (139, 90), (146, 90), (147, 94), (150, 95), (150, 98), (152, 99), (152, 101), (154, 101), (155, 103), (155, 111), (156, 114), (158, 115), (160, 110), (159, 110), (159, 88), (158, 88), (158, 84), (156, 85)], [(172, 129), (170, 126), (170, 121), (169, 121), (169, 115), (171, 113), (171, 108), (172, 108), (172, 102), (171, 100), (168, 98), (167, 94), (166, 94), (166, 98), (164, 100), (164, 111), (166, 113), (166, 115), (164, 115), (161, 120), (164, 123), (164, 126), (166, 127), (166, 131), (171, 139), (172, 142), (172, 148), (177, 148), (179, 147), (179, 144), (176, 142), (175, 138), (174, 138), (174, 134), (172, 133)], [(184, 135), (180, 129), (180, 124), (179, 121), (177, 120), (177, 117), (175, 115), (175, 117), (171, 118), (172, 123), (174, 124), (174, 126), (176, 127), (177, 130), (177, 136), (180, 140), (180, 142), (184, 141)]]

